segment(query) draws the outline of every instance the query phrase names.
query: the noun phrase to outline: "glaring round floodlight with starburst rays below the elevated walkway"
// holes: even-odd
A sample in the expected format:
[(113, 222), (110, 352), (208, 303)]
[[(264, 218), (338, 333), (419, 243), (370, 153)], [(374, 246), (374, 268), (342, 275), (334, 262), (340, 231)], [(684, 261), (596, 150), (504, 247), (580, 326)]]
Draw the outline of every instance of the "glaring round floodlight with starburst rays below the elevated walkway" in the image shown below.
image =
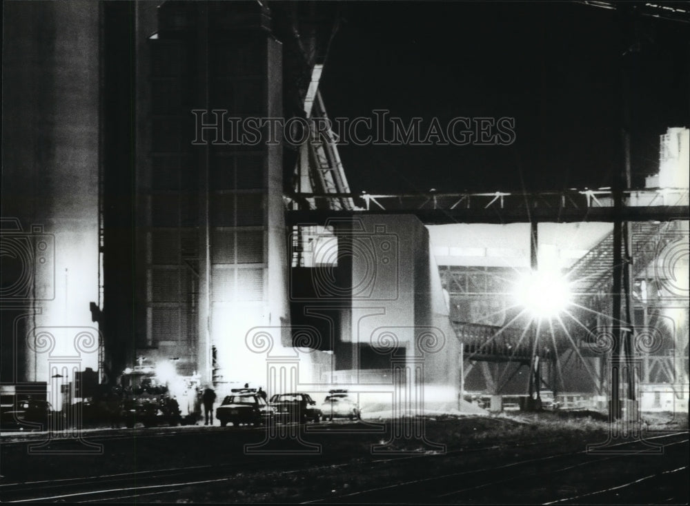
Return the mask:
[(570, 303), (570, 289), (558, 271), (536, 271), (523, 276), (515, 287), (517, 303), (533, 316), (552, 318)]

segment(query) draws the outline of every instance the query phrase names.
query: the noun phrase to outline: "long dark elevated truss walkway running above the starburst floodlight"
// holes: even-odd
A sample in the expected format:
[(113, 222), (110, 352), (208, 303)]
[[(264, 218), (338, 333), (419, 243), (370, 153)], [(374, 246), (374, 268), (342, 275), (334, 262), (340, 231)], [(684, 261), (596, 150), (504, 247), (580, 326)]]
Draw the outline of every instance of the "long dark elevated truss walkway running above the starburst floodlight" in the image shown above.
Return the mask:
[[(286, 196), (290, 225), (357, 214), (415, 214), (427, 225), (448, 223), (574, 223), (578, 221), (668, 221), (688, 219), (687, 188), (626, 190), (624, 205), (613, 191), (418, 194), (293, 193)], [(354, 208), (344, 201), (355, 203)]]

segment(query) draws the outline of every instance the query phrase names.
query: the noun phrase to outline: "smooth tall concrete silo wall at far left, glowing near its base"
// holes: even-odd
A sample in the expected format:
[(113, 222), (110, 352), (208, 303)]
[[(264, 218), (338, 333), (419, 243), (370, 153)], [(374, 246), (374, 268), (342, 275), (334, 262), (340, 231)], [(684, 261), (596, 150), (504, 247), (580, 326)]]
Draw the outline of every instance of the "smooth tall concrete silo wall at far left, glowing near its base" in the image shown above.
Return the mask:
[[(41, 332), (55, 340), (53, 358), (98, 367), (75, 337), (97, 339), (99, 22), (90, 1), (3, 6), (3, 234), (11, 225), (31, 245), (11, 259), (3, 235), (3, 382), (55, 389), (49, 347), (32, 345)], [(63, 375), (72, 381), (72, 366)]]

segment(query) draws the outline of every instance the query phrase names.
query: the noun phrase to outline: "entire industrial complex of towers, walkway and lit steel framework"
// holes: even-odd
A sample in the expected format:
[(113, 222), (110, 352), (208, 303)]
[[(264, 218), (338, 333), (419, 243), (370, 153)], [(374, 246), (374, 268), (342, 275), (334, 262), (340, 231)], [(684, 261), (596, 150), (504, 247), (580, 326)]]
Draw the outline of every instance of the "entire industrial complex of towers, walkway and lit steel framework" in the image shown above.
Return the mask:
[[(328, 132), (298, 146), (219, 136), (239, 125), (226, 118), (328, 117), (337, 6), (8, 9), (25, 34), (3, 56), (18, 72), (3, 85), (3, 216), (17, 217), (3, 218), (3, 247), (26, 243), (12, 267), (30, 275), (3, 293), (3, 383), (50, 390), (87, 366), (108, 383), (169, 362), (221, 391), (394, 399), (413, 385), (405, 409), (462, 411), (466, 392), (607, 409), (623, 339), (639, 383), (627, 398), (687, 411), (687, 128), (662, 134), (659, 174), (620, 202), (608, 188), (355, 195)], [(37, 19), (77, 15), (35, 42)], [(31, 121), (11, 107), (27, 90)], [(515, 298), (539, 276), (527, 291), (540, 302)]]

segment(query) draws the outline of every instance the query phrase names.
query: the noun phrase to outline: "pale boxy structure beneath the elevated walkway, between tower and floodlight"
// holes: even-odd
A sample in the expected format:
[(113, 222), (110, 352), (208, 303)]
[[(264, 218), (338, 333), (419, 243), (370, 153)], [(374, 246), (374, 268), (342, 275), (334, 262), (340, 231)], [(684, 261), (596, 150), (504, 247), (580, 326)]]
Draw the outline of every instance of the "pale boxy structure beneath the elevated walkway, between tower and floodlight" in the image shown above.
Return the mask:
[[(342, 341), (353, 346), (339, 350), (350, 360), (337, 356), (336, 364), (346, 366), (337, 368), (366, 372), (371, 359), (365, 351), (373, 350), (380, 357), (375, 368), (390, 370), (403, 353), (408, 364), (424, 364), (425, 387), (445, 388), (444, 401), (454, 402), (460, 345), (426, 227), (415, 216), (367, 215), (357, 221), (346, 245), (352, 264), (351, 323), (342, 328)], [(383, 352), (391, 346), (393, 352)]]

